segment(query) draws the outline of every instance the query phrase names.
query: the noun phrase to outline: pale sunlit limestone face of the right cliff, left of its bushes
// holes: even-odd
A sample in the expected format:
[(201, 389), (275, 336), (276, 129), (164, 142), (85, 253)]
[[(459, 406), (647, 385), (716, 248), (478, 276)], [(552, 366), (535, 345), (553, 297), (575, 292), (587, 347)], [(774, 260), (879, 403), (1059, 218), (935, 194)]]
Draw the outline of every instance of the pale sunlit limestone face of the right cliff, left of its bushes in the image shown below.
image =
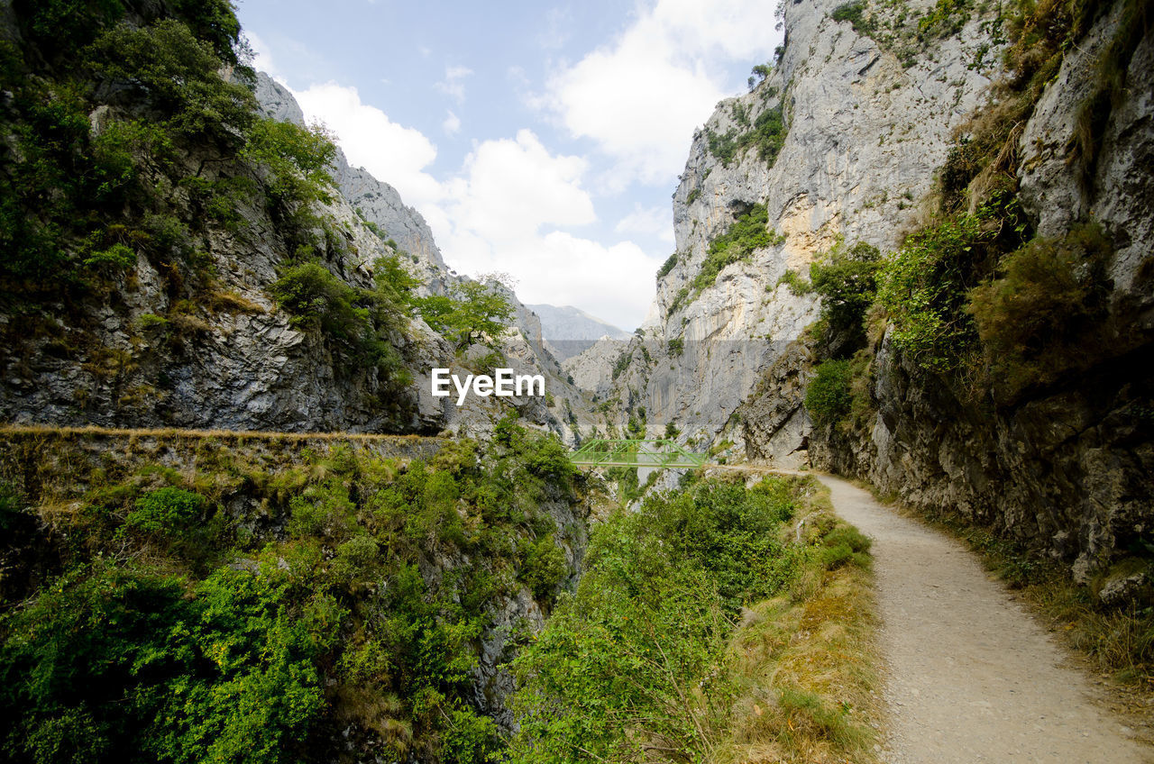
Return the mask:
[[(934, 185), (952, 129), (989, 84), (986, 67), (973, 66), (979, 51), (992, 55), (986, 18), (969, 20), (906, 67), (892, 50), (832, 18), (839, 5), (785, 3), (780, 62), (752, 91), (718, 105), (694, 137), (674, 194), (676, 264), (658, 280), (657, 319), (635, 342), (616, 395), (644, 405), (651, 422), (676, 421), (699, 442), (730, 424), (726, 437), (740, 444), (743, 430), (732, 426), (739, 405), (817, 319), (816, 299), (795, 295), (780, 279), (790, 270), (805, 277), (840, 239), (893, 248), (917, 217), (913, 200)], [(913, 14), (934, 3), (908, 6)], [(711, 138), (748, 133), (772, 108), (785, 125), (772, 162), (752, 145), (728, 164), (711, 151)], [(724, 268), (695, 299), (710, 242), (758, 203), (784, 239)], [(780, 414), (786, 421), (771, 429), (789, 437), (774, 452), (796, 451), (808, 428), (804, 411), (792, 405)]]

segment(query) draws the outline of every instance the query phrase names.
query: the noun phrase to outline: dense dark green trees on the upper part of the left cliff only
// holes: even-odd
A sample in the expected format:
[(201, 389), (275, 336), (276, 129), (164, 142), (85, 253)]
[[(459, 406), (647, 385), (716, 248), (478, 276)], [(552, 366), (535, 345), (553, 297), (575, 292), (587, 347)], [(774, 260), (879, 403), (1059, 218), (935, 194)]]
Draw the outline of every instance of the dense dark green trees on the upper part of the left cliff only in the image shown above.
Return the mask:
[(14, 10), (23, 37), (0, 45), (12, 92), (0, 114), (12, 136), (0, 149), (5, 295), (30, 307), (108, 298), (144, 257), (170, 294), (195, 298), (212, 265), (195, 237), (240, 233), (262, 190), (286, 255), (343, 246), (313, 210), (332, 187), (335, 148), (317, 128), (257, 114), (227, 0)]

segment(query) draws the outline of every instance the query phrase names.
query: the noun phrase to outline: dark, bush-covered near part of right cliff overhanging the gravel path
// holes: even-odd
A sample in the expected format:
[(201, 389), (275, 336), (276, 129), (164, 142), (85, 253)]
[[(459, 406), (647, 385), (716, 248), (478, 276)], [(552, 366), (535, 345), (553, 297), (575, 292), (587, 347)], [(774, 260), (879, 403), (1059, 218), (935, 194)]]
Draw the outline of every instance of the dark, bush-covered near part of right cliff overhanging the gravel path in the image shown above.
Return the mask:
[[(1071, 190), (1084, 200), (1130, 193), (1130, 180), (1095, 174), (1095, 163), (1148, 38), (1146, 6), (1050, 0), (1002, 9), (987, 28), (1007, 38), (998, 40), (1007, 44), (1004, 72), (990, 102), (954, 134), (920, 226), (879, 262), (874, 282), (838, 277), (837, 293), (856, 290), (864, 306), (853, 319), (860, 340), (814, 332), (819, 362), (805, 397), (815, 441), (841, 469), (884, 472), (871, 472), (871, 449), (892, 437), (886, 445), (912, 454), (921, 474), (944, 471), (937, 488), (911, 492), (930, 496), (923, 509), (967, 529), (1011, 585), (1027, 589), (1103, 668), (1130, 679), (1148, 677), (1154, 665), (1154, 550), (1141, 519), (1151, 392), (1134, 372), (1149, 335), (1131, 305), (1147, 276), (1138, 272), (1130, 287), (1112, 283), (1115, 247), (1129, 246), (1130, 234), (1117, 219), (1103, 225), (1088, 204), (1072, 204), (1080, 215), (1039, 235), (1028, 200), (1019, 200), (1031, 165), (1019, 163), (1035, 105), (1054, 95), (1048, 88), (1065, 88), (1085, 93), (1061, 106), (1074, 123), (1057, 150), (1073, 168)], [(1059, 77), (1082, 51), (1096, 51), (1084, 57), (1091, 66)], [(1095, 178), (1117, 190), (1092, 193)], [(815, 285), (823, 268), (811, 270)], [(829, 315), (830, 285), (818, 292)], [(1107, 481), (1123, 487), (1102, 489)], [(957, 516), (943, 496), (964, 496)]]

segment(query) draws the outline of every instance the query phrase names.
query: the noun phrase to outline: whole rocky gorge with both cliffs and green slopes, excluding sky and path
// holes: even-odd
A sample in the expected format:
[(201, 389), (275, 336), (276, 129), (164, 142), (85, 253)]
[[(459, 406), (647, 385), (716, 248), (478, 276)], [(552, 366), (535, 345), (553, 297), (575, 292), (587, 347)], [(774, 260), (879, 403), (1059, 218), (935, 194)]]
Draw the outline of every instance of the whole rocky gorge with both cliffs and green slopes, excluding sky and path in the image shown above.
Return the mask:
[(1146, 703), (1149, 6), (784, 0), (630, 335), (457, 275), (227, 0), (0, 0), (0, 762), (885, 761), (810, 472)]

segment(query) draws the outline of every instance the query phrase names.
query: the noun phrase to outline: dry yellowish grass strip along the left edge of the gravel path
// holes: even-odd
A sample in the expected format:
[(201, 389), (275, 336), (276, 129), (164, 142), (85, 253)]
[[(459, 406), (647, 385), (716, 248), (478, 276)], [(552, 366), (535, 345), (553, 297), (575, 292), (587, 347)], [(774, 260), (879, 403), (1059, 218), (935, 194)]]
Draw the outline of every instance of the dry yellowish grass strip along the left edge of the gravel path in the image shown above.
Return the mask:
[[(844, 525), (829, 489), (810, 495), (786, 532), (816, 541)], [(797, 529), (801, 529), (800, 531)], [(879, 661), (871, 572), (857, 564), (825, 570), (811, 555), (784, 597), (745, 613), (730, 644), (742, 684), (727, 740), (712, 757), (737, 762), (875, 762)]]

